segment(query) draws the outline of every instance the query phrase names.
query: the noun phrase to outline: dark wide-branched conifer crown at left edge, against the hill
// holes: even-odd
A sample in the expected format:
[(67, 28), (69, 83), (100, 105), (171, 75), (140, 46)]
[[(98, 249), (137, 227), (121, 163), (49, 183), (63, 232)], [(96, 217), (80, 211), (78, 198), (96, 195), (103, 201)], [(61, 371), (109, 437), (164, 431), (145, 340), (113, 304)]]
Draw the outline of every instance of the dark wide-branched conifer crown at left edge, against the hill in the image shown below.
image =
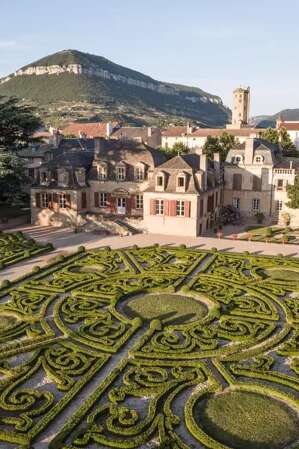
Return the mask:
[(19, 104), (15, 97), (0, 96), (0, 150), (16, 151), (28, 146), (40, 126), (34, 108)]

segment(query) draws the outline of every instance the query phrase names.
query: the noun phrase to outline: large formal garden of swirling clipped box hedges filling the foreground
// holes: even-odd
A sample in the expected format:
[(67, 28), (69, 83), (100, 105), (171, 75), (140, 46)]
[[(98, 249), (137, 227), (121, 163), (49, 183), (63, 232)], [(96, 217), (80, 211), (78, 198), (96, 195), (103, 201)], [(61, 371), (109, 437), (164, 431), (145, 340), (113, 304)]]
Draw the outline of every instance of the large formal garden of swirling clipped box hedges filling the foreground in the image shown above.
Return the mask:
[(299, 448), (299, 259), (60, 255), (0, 286), (0, 449)]

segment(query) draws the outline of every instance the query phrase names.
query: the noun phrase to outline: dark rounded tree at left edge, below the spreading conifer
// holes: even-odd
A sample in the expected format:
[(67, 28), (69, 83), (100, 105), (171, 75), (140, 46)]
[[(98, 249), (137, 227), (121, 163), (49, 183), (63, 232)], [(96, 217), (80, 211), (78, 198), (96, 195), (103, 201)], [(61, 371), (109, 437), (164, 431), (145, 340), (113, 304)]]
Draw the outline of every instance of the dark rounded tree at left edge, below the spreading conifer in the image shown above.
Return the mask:
[(0, 202), (13, 204), (23, 199), (24, 182), (23, 161), (14, 152), (0, 152)]

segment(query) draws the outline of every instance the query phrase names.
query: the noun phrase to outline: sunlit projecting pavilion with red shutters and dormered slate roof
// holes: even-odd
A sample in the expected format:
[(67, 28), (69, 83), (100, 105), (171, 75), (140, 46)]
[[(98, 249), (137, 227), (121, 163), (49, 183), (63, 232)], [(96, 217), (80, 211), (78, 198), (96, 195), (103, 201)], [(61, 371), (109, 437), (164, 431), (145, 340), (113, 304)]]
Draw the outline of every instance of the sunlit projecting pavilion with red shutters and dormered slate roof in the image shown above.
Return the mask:
[(222, 204), (219, 154), (187, 154), (159, 165), (144, 193), (144, 225), (148, 232), (198, 236), (217, 220)]

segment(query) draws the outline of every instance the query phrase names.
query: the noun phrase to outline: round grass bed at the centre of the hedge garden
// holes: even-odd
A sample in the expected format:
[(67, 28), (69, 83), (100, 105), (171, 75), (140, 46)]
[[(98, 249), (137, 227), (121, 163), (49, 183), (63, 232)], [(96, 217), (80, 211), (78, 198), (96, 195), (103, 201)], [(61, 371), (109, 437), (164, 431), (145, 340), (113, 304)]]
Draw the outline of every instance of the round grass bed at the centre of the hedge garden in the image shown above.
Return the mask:
[(196, 299), (174, 294), (139, 296), (124, 307), (130, 317), (150, 321), (160, 319), (167, 324), (181, 324), (199, 320), (207, 314), (207, 307)]

